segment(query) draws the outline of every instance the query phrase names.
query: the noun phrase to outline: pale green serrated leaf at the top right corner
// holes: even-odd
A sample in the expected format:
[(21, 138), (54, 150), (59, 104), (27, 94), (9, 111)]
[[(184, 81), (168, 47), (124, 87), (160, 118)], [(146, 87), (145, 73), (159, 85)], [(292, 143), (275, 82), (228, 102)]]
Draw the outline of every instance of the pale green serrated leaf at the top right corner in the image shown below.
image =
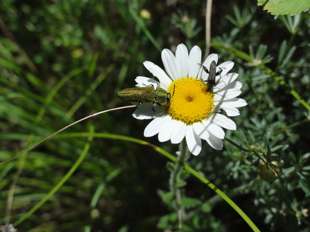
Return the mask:
[(310, 8), (310, 0), (258, 0), (257, 6), (272, 15), (296, 15)]

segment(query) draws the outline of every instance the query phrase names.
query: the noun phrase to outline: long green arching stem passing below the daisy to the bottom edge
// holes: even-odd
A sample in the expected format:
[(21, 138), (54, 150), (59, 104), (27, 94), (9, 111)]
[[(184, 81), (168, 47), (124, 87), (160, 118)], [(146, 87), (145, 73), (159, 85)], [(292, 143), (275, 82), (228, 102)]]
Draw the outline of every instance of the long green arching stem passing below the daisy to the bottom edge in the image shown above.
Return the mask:
[[(90, 136), (89, 133), (85, 132), (75, 132), (75, 133), (64, 133), (61, 135), (57, 135), (53, 137), (52, 139), (60, 139), (60, 138), (73, 138), (73, 137), (88, 137)], [(146, 145), (151, 148), (153, 148), (155, 151), (158, 153), (162, 154), (163, 156), (167, 157), (171, 161), (175, 163), (179, 163), (185, 170), (188, 170), (193, 176), (201, 180), (203, 183), (205, 183), (208, 187), (210, 187), (212, 190), (214, 190), (218, 195), (221, 196), (223, 200), (225, 200), (242, 218), (246, 223), (252, 228), (253, 231), (255, 232), (260, 232), (260, 230), (255, 226), (255, 224), (251, 221), (251, 219), (239, 208), (227, 195), (224, 194), (221, 190), (219, 190), (214, 184), (212, 184), (208, 179), (203, 177), (201, 174), (199, 174), (197, 171), (195, 171), (193, 168), (188, 166), (185, 163), (179, 162), (177, 157), (173, 156), (172, 154), (166, 152), (162, 148), (159, 148), (153, 144), (150, 144), (144, 140), (139, 140), (135, 139), (132, 137), (128, 136), (123, 136), (123, 135), (113, 135), (113, 134), (108, 134), (108, 133), (94, 133), (92, 134), (92, 137), (94, 138), (105, 138), (105, 139), (113, 139), (113, 140), (123, 140), (123, 141), (128, 141), (128, 142), (133, 142), (133, 143), (138, 143), (141, 145)]]

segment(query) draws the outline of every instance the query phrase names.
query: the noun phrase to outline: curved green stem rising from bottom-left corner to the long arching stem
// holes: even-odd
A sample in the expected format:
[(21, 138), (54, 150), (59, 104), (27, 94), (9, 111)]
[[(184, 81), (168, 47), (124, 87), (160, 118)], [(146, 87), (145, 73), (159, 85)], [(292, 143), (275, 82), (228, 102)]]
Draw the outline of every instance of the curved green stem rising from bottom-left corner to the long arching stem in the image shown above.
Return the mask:
[(88, 142), (85, 144), (84, 149), (80, 155), (80, 157), (77, 159), (77, 161), (75, 161), (75, 163), (72, 165), (72, 167), (70, 168), (70, 170), (67, 172), (67, 174), (55, 185), (55, 187), (52, 188), (52, 190), (45, 196), (43, 197), (42, 200), (40, 200), (38, 202), (38, 204), (36, 204), (35, 206), (33, 206), (32, 209), (30, 209), (27, 213), (25, 213), (19, 220), (17, 220), (13, 226), (16, 227), (18, 226), (20, 223), (22, 223), (25, 219), (27, 219), (28, 217), (30, 217), (38, 208), (40, 208), (48, 199), (50, 199), (55, 192), (69, 179), (69, 177), (73, 174), (73, 172), (78, 168), (78, 166), (81, 164), (81, 162), (84, 160), (84, 158), (86, 157), (86, 154), (91, 146), (91, 141), (93, 139), (93, 131), (94, 131), (94, 127), (92, 126), (90, 128), (90, 132), (87, 133), (88, 137)]

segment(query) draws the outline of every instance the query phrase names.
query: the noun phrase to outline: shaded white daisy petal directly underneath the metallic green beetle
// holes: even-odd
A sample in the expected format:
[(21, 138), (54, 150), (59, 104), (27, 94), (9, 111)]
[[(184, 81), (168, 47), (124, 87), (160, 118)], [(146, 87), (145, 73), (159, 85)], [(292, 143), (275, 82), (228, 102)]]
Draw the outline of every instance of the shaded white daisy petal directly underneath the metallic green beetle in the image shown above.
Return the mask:
[(138, 109), (135, 109), (132, 116), (137, 119), (151, 119), (151, 118), (157, 118), (164, 114), (166, 108), (165, 107), (159, 107), (156, 105), (154, 107), (155, 112), (152, 108), (153, 103), (152, 102), (145, 102), (141, 107)]

